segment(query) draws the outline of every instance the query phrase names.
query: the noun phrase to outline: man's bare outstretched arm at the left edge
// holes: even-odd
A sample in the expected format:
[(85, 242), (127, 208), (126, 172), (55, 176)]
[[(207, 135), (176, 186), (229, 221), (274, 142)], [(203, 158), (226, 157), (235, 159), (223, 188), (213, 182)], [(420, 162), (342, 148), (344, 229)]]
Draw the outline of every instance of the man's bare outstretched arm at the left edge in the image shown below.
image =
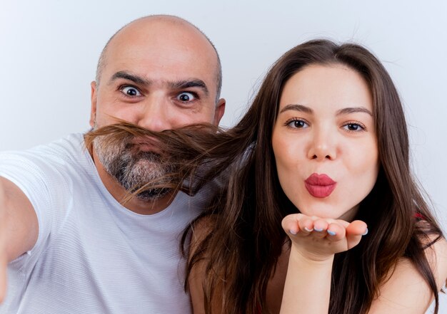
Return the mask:
[(6, 293), (6, 266), (36, 244), (39, 224), (21, 189), (0, 177), (0, 302)]

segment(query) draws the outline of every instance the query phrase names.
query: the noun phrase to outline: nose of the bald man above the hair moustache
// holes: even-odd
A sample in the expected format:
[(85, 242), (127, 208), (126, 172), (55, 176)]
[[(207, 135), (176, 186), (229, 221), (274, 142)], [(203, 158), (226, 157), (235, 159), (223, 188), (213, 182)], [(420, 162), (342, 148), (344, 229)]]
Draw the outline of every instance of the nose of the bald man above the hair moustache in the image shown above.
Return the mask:
[(169, 103), (160, 97), (151, 97), (141, 106), (139, 121), (140, 127), (147, 130), (161, 132), (171, 129), (169, 121)]

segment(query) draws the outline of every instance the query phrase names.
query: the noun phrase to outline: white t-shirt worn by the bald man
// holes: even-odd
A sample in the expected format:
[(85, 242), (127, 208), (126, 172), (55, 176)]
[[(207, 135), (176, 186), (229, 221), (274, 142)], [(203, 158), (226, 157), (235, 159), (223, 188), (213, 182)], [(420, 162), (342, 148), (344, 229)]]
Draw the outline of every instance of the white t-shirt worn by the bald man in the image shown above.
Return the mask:
[(102, 184), (81, 134), (1, 153), (0, 176), (39, 220), (34, 248), (9, 263), (0, 313), (191, 313), (179, 241), (207, 189), (179, 192), (157, 214), (129, 211)]

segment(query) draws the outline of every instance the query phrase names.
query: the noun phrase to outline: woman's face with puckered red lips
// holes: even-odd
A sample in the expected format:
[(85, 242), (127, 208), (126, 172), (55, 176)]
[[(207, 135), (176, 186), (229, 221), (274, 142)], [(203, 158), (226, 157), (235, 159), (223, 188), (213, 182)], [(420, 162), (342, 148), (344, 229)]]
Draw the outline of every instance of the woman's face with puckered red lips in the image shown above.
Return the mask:
[(368, 84), (340, 64), (306, 66), (284, 85), (272, 145), (281, 187), (301, 213), (351, 221), (379, 169)]

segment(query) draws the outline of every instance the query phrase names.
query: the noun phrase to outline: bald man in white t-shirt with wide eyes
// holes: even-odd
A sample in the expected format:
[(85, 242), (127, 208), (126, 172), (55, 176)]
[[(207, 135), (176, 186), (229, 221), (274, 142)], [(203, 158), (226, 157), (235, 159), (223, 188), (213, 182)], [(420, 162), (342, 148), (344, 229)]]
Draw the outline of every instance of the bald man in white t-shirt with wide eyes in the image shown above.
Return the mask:
[[(101, 53), (90, 125), (218, 125), (220, 90), (219, 56), (198, 28), (145, 17)], [(123, 205), (129, 190), (171, 169), (138, 139), (105, 142), (86, 148), (80, 133), (0, 154), (0, 313), (191, 312), (179, 235), (206, 192), (149, 190)]]

